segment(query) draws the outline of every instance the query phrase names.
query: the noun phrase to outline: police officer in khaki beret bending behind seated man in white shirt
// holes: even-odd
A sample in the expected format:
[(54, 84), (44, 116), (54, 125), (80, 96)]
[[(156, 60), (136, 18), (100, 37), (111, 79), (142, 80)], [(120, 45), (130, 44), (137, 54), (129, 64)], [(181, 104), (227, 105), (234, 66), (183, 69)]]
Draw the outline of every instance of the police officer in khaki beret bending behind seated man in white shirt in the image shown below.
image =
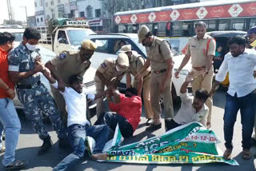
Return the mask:
[[(86, 73), (90, 67), (90, 58), (94, 54), (97, 46), (94, 42), (86, 40), (82, 42), (80, 50), (66, 50), (46, 63), (46, 67), (58, 81), (58, 89), (64, 90), (65, 85), (71, 75), (78, 74), (80, 77)], [(58, 106), (58, 110), (62, 115), (62, 121), (66, 123), (66, 103), (58, 89), (51, 86), (54, 94), (54, 100)]]

